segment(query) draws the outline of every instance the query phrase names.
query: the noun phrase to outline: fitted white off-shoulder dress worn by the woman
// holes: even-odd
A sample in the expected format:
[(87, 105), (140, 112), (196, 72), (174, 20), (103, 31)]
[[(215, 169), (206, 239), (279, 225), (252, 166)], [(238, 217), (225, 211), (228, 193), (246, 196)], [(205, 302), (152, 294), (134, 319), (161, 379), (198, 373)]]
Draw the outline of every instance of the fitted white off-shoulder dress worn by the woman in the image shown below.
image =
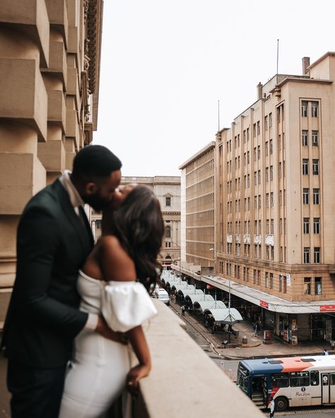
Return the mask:
[[(114, 331), (127, 332), (155, 316), (153, 301), (139, 282), (103, 282), (79, 272), (81, 310), (101, 314)], [(129, 347), (83, 330), (66, 376), (59, 418), (104, 417), (124, 390)]]

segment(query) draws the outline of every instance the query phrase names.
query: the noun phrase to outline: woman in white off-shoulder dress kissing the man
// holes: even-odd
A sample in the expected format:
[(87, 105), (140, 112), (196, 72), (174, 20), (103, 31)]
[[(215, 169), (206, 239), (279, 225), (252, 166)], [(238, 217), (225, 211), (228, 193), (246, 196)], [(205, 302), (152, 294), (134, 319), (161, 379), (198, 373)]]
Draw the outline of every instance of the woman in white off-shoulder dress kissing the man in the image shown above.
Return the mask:
[(83, 330), (66, 376), (59, 418), (103, 417), (124, 388), (134, 390), (151, 359), (141, 324), (156, 314), (148, 290), (158, 278), (164, 225), (160, 205), (136, 186), (113, 215), (78, 277), (81, 309), (102, 314), (112, 330), (126, 333), (139, 364), (130, 368), (129, 346)]

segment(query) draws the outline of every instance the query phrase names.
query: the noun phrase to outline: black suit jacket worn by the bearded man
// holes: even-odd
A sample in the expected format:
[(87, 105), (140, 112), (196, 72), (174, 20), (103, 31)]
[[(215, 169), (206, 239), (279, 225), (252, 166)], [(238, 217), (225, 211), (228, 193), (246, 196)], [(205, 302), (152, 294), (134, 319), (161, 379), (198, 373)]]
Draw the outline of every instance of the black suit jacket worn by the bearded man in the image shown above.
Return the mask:
[(56, 180), (25, 207), (18, 225), (17, 271), (4, 326), (6, 356), (36, 368), (63, 366), (88, 314), (78, 310), (78, 270), (93, 236)]

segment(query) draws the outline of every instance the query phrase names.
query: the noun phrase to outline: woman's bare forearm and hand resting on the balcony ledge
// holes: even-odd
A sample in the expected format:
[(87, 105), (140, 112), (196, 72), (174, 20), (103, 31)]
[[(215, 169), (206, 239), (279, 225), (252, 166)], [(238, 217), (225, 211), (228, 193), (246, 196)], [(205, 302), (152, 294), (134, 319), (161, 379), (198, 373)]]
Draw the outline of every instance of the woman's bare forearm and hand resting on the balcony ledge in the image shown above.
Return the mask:
[(141, 326), (129, 330), (127, 336), (139, 360), (139, 364), (131, 368), (127, 374), (127, 388), (131, 393), (136, 394), (140, 378), (148, 376), (151, 370), (151, 357)]

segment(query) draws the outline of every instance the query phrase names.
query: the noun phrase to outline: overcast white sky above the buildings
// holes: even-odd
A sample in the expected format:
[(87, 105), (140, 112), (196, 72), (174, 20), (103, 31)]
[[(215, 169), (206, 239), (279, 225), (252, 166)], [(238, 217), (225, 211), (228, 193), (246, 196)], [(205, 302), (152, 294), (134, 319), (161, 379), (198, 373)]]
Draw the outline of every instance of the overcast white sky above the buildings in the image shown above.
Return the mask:
[(335, 50), (334, 0), (105, 0), (98, 131), (125, 176), (180, 175), (257, 98)]

